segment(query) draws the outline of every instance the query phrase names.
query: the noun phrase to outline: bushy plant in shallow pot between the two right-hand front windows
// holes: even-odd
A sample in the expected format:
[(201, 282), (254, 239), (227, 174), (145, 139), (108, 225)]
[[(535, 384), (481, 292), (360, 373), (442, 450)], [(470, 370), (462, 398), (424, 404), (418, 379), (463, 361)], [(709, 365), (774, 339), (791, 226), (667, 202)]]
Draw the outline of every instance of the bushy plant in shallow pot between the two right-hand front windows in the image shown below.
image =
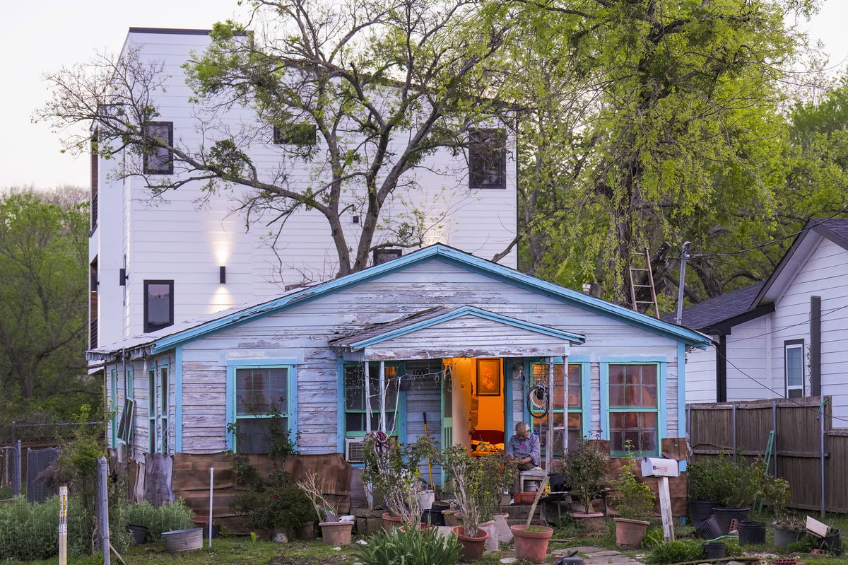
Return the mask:
[(573, 517), (594, 519), (603, 517), (601, 512), (593, 512), (592, 501), (604, 491), (602, 479), (605, 477), (609, 457), (597, 443), (580, 439), (577, 445), (570, 447), (562, 457), (562, 475), (570, 484), (571, 494), (583, 505), (585, 512), (572, 512)]

